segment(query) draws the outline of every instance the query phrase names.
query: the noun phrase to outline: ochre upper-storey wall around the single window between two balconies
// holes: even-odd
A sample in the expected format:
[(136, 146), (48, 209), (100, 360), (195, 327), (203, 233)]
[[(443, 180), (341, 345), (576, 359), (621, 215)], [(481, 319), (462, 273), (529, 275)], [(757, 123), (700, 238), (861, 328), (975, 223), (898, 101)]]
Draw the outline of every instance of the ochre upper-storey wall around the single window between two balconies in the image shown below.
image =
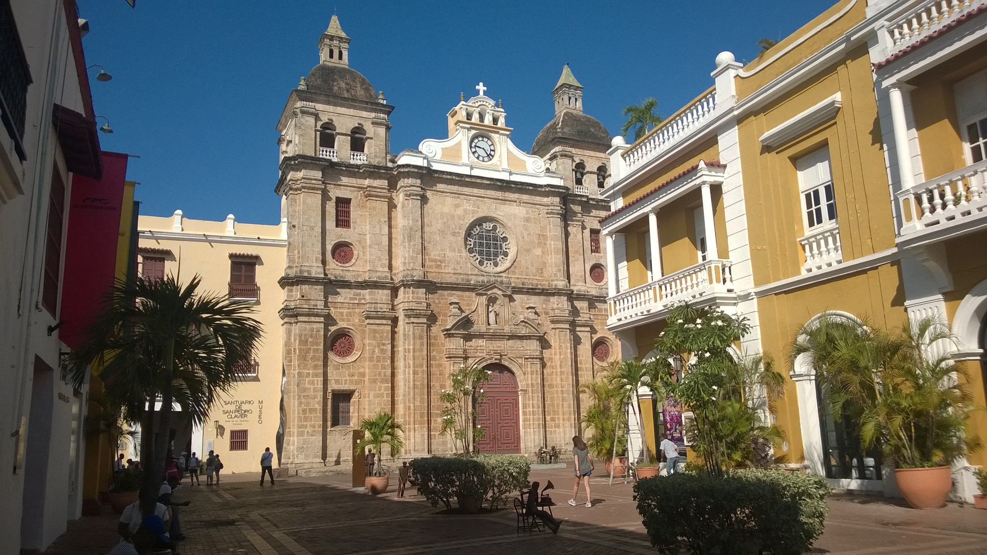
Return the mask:
[[(876, 127), (871, 62), (865, 47), (821, 72), (791, 96), (739, 124), (740, 159), (755, 285), (795, 277), (804, 262), (796, 160), (828, 147), (844, 262), (894, 246), (894, 226)], [(776, 150), (758, 138), (839, 92), (834, 120)]]

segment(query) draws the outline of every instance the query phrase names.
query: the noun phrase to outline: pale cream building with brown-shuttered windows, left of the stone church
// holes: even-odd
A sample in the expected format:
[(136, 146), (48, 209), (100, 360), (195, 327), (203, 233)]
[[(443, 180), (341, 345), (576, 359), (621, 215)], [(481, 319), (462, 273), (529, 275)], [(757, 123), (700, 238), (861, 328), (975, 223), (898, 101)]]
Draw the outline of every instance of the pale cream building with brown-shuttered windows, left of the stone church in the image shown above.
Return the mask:
[(173, 415), (176, 455), (194, 451), (204, 460), (204, 453), (216, 451), (223, 472), (260, 472), (261, 453), (270, 448), (279, 463), (283, 373), (277, 312), (283, 294), (277, 280), (284, 274), (285, 224), (242, 224), (232, 214), (221, 222), (190, 220), (176, 210), (172, 217), (140, 216), (137, 227), (140, 275), (174, 274), (182, 283), (201, 276), (200, 291), (253, 303), (264, 328), (240, 382), (220, 397), (204, 423), (195, 425), (188, 413)]

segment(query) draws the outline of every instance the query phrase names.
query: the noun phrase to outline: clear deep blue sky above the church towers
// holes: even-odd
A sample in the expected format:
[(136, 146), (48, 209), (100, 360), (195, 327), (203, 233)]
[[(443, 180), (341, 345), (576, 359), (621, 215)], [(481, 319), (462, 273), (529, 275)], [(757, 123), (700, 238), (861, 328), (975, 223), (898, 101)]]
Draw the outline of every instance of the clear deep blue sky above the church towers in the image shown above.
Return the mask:
[(615, 134), (624, 105), (655, 97), (667, 115), (713, 84), (721, 50), (751, 60), (760, 37), (789, 35), (835, 1), (137, 0), (130, 9), (79, 0), (79, 9), (91, 26), (87, 63), (114, 76), (92, 80), (96, 113), (114, 128), (102, 146), (140, 155), (127, 176), (141, 183), (141, 213), (274, 224), (274, 125), (318, 63), (334, 12), (350, 66), (397, 106), (391, 152), (444, 138), (445, 113), (479, 81), (527, 151), (552, 119), (566, 62), (585, 111)]

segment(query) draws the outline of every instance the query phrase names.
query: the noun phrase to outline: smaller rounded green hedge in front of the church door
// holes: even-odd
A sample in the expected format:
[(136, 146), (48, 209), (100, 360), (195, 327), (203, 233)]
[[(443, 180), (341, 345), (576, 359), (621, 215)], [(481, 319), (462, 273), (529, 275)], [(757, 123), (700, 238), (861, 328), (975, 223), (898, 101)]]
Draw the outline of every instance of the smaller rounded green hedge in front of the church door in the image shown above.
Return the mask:
[(432, 507), (441, 502), (446, 509), (463, 495), (487, 500), (496, 509), (504, 498), (528, 485), (531, 472), (531, 461), (519, 454), (429, 456), (413, 460), (411, 466), (421, 495)]

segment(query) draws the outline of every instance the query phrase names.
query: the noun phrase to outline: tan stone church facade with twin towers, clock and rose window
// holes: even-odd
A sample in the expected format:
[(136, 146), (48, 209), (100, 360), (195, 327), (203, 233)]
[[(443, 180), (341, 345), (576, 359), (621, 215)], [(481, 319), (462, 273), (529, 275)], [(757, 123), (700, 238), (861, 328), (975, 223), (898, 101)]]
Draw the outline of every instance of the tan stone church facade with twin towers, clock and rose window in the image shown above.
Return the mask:
[(404, 457), (451, 452), (439, 394), (463, 365), (493, 373), (481, 451), (567, 446), (579, 385), (619, 351), (599, 236), (610, 140), (582, 87), (567, 66), (533, 154), (481, 83), (446, 114), (448, 137), (394, 156), (393, 106), (349, 67), (335, 16), (319, 46), (277, 125), (282, 466), (346, 464), (378, 411), (404, 425)]

